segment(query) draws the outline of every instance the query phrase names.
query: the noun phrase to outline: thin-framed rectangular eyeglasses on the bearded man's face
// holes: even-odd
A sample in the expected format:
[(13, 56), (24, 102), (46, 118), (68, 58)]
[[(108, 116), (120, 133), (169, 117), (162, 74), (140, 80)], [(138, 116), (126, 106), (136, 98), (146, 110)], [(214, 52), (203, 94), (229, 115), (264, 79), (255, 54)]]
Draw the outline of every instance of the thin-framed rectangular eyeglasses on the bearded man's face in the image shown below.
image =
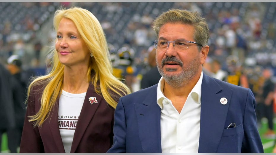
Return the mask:
[(169, 47), (170, 43), (173, 43), (173, 47), (175, 47), (175, 49), (179, 49), (179, 50), (186, 50), (189, 48), (189, 45), (187, 43), (192, 43), (192, 44), (197, 44), (201, 47), (203, 47), (201, 44), (194, 42), (194, 41), (186, 41), (184, 39), (177, 39), (175, 41), (166, 41), (166, 40), (155, 40), (154, 42), (154, 47), (155, 49), (159, 49), (159, 50), (165, 50)]

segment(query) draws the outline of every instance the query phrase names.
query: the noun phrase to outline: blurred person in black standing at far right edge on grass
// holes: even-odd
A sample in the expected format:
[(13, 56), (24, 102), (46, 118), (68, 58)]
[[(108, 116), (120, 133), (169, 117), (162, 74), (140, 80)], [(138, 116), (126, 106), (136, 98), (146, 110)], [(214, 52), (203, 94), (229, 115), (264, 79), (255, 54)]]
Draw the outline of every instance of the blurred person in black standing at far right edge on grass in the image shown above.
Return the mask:
[(274, 89), (275, 84), (272, 82), (272, 70), (270, 68), (265, 68), (263, 70), (263, 77), (264, 77), (264, 85), (262, 89), (262, 98), (264, 104), (264, 117), (268, 120), (268, 129), (267, 132), (264, 134), (267, 138), (275, 138), (275, 131), (274, 131)]

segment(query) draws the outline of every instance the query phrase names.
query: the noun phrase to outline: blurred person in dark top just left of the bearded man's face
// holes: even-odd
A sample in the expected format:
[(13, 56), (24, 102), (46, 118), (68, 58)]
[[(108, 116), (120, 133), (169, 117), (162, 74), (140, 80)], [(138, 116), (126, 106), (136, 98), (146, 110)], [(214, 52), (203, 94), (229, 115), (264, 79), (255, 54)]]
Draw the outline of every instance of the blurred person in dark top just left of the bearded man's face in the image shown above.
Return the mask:
[(156, 60), (155, 60), (156, 49), (154, 48), (154, 45), (151, 46), (148, 50), (150, 51), (148, 54), (148, 65), (150, 69), (142, 76), (141, 83), (140, 83), (141, 89), (157, 84), (161, 78), (161, 75), (158, 72), (158, 69), (156, 66)]

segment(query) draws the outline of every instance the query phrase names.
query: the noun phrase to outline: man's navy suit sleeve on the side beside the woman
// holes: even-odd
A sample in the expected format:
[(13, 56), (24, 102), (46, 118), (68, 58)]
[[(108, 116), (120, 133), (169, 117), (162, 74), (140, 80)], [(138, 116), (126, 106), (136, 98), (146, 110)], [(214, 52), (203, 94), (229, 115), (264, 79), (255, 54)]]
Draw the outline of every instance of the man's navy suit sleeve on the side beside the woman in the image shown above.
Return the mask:
[(126, 153), (126, 119), (122, 99), (119, 99), (114, 114), (113, 145), (107, 153)]

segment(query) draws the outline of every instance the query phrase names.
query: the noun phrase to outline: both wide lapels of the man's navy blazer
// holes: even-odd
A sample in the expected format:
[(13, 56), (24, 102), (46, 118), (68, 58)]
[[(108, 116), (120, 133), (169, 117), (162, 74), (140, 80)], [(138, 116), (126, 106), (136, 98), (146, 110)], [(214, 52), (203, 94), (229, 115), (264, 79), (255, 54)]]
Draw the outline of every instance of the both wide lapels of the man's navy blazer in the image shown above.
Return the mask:
[[(138, 132), (143, 152), (162, 152), (160, 116), (161, 109), (156, 103), (157, 84), (147, 88), (142, 103), (135, 102)], [(224, 129), (232, 90), (222, 91), (222, 87), (203, 73), (200, 114), (199, 153), (216, 152)], [(221, 104), (226, 98), (228, 104)], [(153, 141), (154, 140), (154, 141)]]

